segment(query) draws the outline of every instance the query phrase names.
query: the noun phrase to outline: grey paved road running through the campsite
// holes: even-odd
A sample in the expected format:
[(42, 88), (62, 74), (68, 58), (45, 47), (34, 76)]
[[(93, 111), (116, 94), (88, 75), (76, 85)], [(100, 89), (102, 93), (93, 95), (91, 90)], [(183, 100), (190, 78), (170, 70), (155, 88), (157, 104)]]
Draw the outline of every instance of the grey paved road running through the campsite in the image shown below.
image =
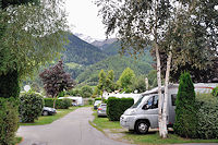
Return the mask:
[(106, 137), (89, 125), (90, 108), (80, 108), (48, 125), (20, 126), (20, 145), (128, 145)]

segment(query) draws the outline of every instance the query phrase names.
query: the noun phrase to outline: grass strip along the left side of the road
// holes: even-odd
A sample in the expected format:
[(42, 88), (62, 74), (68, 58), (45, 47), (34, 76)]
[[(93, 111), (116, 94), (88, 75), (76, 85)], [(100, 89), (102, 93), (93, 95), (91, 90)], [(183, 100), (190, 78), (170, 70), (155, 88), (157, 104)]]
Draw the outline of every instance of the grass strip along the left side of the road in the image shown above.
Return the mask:
[(20, 123), (20, 125), (44, 125), (44, 124), (50, 124), (53, 121), (64, 117), (69, 112), (74, 111), (80, 107), (71, 107), (69, 109), (57, 109), (57, 113), (55, 116), (41, 116), (38, 118), (38, 120), (35, 120), (34, 123)]

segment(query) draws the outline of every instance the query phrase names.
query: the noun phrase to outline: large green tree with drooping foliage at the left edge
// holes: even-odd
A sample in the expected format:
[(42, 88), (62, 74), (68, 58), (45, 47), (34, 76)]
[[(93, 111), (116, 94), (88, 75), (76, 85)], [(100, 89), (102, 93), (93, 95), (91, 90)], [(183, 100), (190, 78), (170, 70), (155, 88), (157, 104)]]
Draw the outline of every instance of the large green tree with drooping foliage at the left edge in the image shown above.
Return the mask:
[(20, 80), (63, 50), (65, 13), (60, 8), (61, 0), (0, 3), (0, 96), (17, 97)]

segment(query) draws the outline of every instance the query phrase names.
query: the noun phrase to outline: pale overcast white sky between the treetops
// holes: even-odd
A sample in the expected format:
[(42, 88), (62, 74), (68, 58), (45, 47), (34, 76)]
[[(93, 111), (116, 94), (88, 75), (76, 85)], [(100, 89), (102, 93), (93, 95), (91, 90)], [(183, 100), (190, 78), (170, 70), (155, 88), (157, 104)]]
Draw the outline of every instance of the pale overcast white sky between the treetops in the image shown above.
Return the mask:
[(69, 24), (73, 33), (82, 33), (93, 38), (104, 39), (105, 28), (98, 8), (92, 0), (65, 0)]

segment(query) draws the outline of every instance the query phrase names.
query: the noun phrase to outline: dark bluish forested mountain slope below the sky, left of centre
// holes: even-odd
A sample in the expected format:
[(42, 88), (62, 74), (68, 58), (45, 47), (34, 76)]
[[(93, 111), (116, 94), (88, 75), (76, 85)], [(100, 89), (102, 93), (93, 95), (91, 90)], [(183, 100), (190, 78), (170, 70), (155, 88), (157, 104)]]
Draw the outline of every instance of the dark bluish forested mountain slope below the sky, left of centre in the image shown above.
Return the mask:
[(107, 58), (102, 50), (82, 40), (77, 36), (70, 34), (70, 43), (65, 46), (66, 50), (63, 52), (63, 60), (66, 63), (74, 62), (82, 65), (94, 64)]

